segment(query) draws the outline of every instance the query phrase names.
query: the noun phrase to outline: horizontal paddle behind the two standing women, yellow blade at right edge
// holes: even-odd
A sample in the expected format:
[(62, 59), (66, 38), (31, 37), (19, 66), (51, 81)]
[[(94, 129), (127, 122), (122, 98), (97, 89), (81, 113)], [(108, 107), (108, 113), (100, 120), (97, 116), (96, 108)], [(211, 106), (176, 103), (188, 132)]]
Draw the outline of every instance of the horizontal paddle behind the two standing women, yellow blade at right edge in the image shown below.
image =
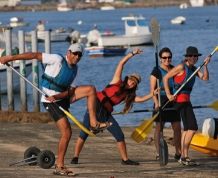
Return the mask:
[[(214, 109), (216, 111), (218, 111), (218, 100), (214, 101), (213, 103), (209, 104), (209, 105), (199, 105), (199, 106), (193, 106), (193, 109), (201, 109), (201, 108), (211, 108)], [(170, 110), (175, 110), (175, 108), (166, 108), (164, 109), (164, 111), (170, 111)], [(124, 112), (114, 112), (112, 113), (113, 115), (119, 115), (119, 114), (133, 114), (133, 113), (138, 113), (138, 112), (154, 112), (154, 109), (139, 109), (139, 110), (134, 110), (128, 113), (124, 113)]]

